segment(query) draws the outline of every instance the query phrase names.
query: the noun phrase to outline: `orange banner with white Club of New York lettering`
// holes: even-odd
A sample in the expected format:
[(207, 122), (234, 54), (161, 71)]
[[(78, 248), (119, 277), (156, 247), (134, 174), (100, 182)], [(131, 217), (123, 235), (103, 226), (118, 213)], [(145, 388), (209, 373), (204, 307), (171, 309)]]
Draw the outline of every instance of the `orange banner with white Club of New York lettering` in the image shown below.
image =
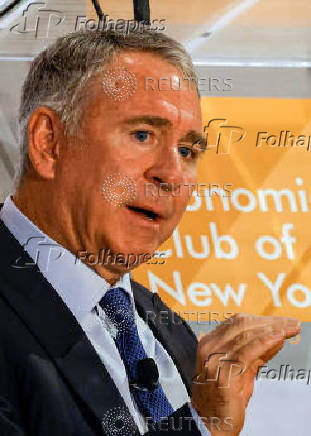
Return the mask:
[(311, 101), (203, 97), (202, 110), (196, 192), (134, 278), (192, 321), (311, 321)]

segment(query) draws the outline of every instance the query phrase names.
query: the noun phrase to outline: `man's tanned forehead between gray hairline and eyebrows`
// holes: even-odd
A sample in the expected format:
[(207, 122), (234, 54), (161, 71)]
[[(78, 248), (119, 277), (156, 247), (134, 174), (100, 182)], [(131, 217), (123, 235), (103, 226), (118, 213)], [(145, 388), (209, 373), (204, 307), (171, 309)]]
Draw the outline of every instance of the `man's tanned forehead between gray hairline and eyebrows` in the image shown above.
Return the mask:
[(165, 76), (173, 81), (183, 78), (181, 71), (158, 55), (139, 51), (119, 53), (96, 77), (96, 89), (91, 91), (94, 106), (109, 110), (111, 118), (150, 115), (167, 118), (175, 126), (186, 123), (201, 130), (201, 107), (196, 91), (147, 88), (145, 81), (150, 79), (150, 74), (155, 81)]

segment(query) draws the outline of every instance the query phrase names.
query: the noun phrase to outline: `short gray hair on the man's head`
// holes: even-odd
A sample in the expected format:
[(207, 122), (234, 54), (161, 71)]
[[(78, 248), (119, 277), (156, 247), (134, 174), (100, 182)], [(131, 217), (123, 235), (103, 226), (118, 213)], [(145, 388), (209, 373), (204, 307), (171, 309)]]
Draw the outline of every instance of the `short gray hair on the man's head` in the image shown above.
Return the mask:
[[(184, 76), (196, 80), (188, 53), (180, 43), (163, 33), (86, 30), (58, 38), (34, 59), (22, 88), (18, 118), (21, 156), (15, 186), (31, 167), (28, 122), (32, 113), (39, 106), (47, 106), (59, 116), (65, 132), (74, 133), (81, 115), (79, 102), (86, 82), (95, 73), (103, 71), (114, 55), (123, 50), (155, 53)], [(199, 95), (197, 83), (196, 89)]]

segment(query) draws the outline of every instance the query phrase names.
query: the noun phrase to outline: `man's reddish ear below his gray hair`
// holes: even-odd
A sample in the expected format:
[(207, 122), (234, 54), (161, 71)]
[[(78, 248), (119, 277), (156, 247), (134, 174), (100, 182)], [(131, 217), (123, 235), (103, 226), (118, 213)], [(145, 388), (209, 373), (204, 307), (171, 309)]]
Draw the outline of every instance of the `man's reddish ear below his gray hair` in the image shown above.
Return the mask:
[(28, 123), (28, 154), (40, 177), (54, 178), (63, 143), (64, 129), (58, 116), (48, 107), (38, 107)]

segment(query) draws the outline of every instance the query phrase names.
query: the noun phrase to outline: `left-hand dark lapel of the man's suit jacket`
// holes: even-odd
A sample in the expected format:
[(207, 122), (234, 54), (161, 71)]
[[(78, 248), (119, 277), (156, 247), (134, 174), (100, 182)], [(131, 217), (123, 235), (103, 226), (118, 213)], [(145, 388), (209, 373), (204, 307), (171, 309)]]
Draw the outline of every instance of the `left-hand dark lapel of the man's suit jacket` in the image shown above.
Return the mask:
[(36, 266), (13, 267), (18, 258), (20, 266), (32, 261), (1, 220), (0, 244), (0, 298), (22, 319), (97, 420), (101, 422), (114, 407), (127, 411), (105, 366), (57, 292)]

